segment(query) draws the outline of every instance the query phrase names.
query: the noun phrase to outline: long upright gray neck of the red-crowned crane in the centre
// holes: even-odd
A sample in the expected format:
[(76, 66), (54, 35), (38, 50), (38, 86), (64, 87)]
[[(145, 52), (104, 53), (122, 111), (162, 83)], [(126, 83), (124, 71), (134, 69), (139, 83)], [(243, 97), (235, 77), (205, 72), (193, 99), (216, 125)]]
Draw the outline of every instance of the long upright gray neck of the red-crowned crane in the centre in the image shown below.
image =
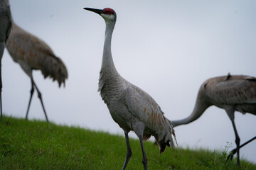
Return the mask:
[(106, 22), (105, 42), (104, 42), (104, 48), (103, 48), (101, 72), (107, 71), (107, 72), (117, 73), (117, 69), (114, 67), (114, 61), (111, 53), (111, 40), (112, 40), (113, 30), (114, 30), (114, 22), (112, 23)]

